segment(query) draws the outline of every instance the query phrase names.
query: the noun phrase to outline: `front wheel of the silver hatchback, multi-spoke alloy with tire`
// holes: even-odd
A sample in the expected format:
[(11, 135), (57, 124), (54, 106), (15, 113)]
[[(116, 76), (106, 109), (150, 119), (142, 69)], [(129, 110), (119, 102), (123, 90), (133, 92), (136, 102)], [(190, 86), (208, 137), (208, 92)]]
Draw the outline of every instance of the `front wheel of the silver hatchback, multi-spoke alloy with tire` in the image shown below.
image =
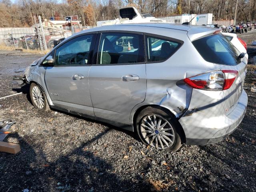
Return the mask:
[(48, 111), (50, 109), (46, 95), (42, 89), (35, 83), (30, 85), (30, 98), (33, 106), (41, 111)]

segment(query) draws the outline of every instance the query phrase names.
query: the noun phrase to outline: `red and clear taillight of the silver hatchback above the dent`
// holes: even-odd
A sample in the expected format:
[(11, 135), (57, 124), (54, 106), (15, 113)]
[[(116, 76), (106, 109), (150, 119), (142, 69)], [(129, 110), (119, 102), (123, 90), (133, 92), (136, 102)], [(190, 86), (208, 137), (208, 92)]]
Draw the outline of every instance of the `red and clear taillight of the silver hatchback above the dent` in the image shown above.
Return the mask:
[(185, 78), (184, 82), (195, 89), (226, 90), (233, 84), (237, 73), (234, 70), (212, 71)]

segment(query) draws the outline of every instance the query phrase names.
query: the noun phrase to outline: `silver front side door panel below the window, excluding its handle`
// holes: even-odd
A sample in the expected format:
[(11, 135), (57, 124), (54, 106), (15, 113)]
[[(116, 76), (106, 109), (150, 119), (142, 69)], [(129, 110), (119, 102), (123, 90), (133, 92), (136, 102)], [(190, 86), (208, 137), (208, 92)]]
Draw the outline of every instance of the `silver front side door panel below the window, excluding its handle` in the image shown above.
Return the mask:
[[(52, 103), (56, 106), (94, 116), (89, 91), (90, 66), (47, 67), (45, 82)], [(75, 74), (84, 78), (72, 79)]]

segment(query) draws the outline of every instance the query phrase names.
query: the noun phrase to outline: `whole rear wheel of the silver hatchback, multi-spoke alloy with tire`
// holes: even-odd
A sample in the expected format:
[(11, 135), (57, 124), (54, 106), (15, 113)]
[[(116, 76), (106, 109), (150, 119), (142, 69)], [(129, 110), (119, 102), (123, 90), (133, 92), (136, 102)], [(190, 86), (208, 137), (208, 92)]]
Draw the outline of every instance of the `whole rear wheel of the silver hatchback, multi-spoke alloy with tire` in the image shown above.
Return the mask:
[(181, 147), (181, 139), (173, 122), (166, 112), (148, 107), (138, 115), (137, 132), (146, 145), (159, 150), (177, 151)]

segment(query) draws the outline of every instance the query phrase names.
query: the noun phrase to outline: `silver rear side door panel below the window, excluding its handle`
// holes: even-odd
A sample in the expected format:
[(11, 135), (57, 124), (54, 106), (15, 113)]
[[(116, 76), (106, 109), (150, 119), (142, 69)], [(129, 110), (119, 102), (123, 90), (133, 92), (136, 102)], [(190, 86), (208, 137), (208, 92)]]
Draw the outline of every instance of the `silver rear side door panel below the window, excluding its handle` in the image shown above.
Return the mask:
[[(123, 81), (125, 75), (139, 80)], [(91, 66), (89, 82), (95, 115), (130, 124), (132, 108), (146, 96), (146, 64)]]

